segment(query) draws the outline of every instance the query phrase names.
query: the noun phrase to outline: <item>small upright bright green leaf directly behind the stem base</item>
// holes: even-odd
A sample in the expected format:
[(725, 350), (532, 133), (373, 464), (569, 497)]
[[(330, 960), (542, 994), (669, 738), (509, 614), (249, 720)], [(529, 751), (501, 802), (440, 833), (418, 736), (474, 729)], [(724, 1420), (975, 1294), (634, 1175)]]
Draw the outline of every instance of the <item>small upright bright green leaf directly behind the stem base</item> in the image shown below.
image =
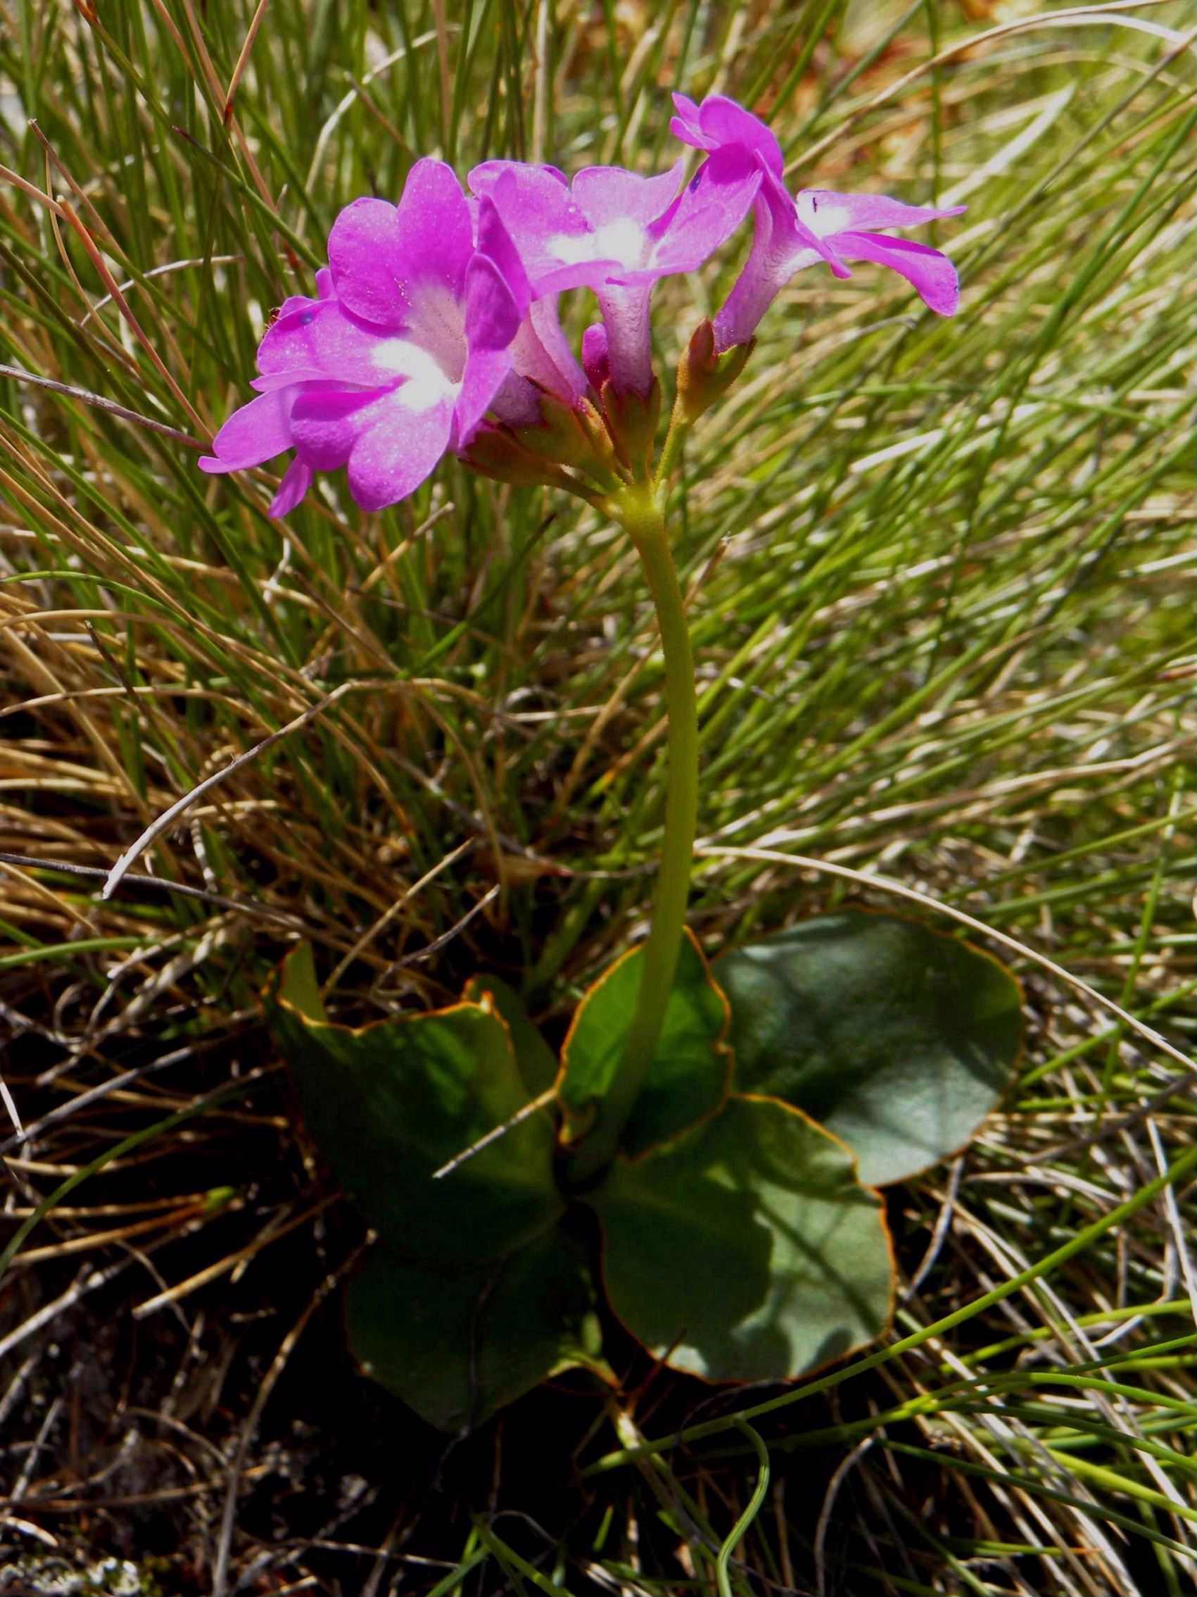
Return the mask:
[[(643, 949), (632, 949), (578, 1005), (557, 1083), (567, 1115), (583, 1116), (606, 1094), (624, 1056), (642, 966)], [(686, 933), (653, 1065), (621, 1137), (626, 1153), (675, 1137), (723, 1104), (731, 1075), (726, 1032), (728, 1003)]]

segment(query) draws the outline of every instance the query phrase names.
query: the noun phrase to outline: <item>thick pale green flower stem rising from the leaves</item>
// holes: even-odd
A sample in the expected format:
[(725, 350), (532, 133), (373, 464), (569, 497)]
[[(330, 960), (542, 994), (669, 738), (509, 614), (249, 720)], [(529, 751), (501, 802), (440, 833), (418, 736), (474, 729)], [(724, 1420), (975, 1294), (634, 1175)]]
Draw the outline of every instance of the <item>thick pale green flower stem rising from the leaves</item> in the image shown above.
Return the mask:
[(579, 1180), (602, 1169), (614, 1156), (619, 1132), (640, 1096), (666, 1019), (686, 925), (689, 869), (697, 829), (697, 698), (689, 629), (666, 535), (662, 498), (664, 495), (653, 492), (651, 487), (637, 484), (622, 492), (616, 506), (619, 521), (640, 554), (661, 631), (669, 712), (666, 835), (632, 1027), (622, 1064), (598, 1105), (594, 1127), (578, 1148), (575, 1177)]

